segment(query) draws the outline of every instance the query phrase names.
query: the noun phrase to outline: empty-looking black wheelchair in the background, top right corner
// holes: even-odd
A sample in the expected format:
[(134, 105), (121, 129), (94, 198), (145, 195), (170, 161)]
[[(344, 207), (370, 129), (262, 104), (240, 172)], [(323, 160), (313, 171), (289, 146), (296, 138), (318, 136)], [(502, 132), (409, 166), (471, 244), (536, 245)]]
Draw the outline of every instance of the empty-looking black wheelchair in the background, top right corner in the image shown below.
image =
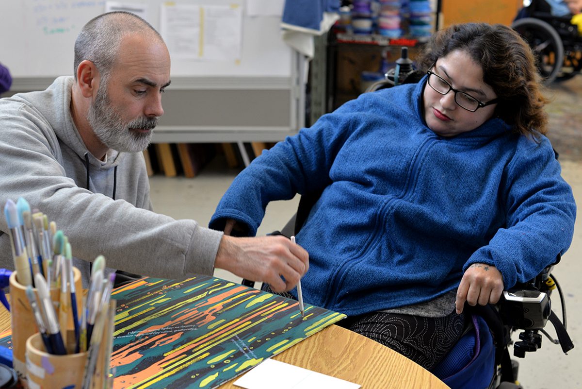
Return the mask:
[(511, 25), (537, 55), (546, 83), (570, 79), (582, 70), (582, 35), (571, 17), (552, 16), (545, 0), (524, 0)]

